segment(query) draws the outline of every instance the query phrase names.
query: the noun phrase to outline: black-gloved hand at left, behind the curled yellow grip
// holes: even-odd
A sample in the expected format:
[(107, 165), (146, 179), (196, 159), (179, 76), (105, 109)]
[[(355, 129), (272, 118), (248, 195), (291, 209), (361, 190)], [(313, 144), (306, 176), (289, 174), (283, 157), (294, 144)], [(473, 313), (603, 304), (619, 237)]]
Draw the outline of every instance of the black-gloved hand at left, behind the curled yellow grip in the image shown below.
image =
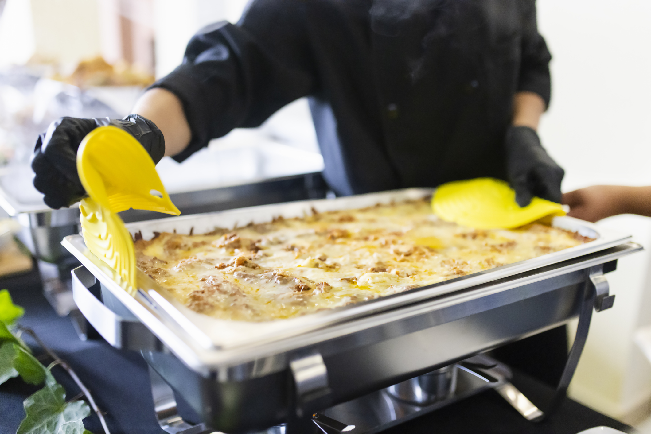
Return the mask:
[(36, 140), (32, 169), (36, 176), (34, 186), (45, 195), (50, 207), (59, 208), (79, 202), (86, 196), (77, 174), (77, 149), (90, 131), (100, 126), (112, 125), (124, 129), (135, 137), (158, 163), (165, 155), (163, 133), (154, 122), (139, 115), (124, 119), (61, 118), (52, 122), (48, 131)]

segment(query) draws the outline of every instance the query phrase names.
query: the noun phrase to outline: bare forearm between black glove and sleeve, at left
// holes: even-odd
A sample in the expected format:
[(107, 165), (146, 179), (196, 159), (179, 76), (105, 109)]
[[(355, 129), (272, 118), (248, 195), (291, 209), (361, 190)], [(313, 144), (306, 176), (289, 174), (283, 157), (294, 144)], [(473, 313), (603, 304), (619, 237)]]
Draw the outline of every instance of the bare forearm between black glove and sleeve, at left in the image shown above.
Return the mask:
[(132, 113), (156, 124), (165, 137), (165, 155), (175, 156), (190, 142), (192, 133), (181, 101), (169, 90), (147, 90), (135, 103)]

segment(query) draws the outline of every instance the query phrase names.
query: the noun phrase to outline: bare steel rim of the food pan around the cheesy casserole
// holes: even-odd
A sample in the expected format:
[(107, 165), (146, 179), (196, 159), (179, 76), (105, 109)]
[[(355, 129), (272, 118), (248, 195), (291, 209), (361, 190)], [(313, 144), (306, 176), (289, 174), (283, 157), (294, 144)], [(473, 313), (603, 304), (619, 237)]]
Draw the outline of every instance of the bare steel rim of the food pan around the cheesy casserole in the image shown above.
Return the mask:
[[(317, 211), (345, 210), (352, 208), (361, 208), (372, 206), (377, 203), (390, 203), (405, 199), (421, 198), (431, 194), (427, 189), (406, 189), (402, 191), (392, 191), (386, 193), (372, 193), (368, 195), (359, 195), (353, 197), (337, 198), (333, 200), (305, 200), (291, 202), (288, 204), (275, 204), (268, 206), (257, 206), (252, 208), (243, 208), (240, 210), (229, 210), (217, 213), (208, 213), (202, 215), (188, 215), (182, 217), (172, 217), (168, 219), (159, 219), (156, 221), (146, 221), (128, 224), (128, 229), (135, 234), (141, 232), (145, 239), (154, 236), (154, 232), (173, 232), (201, 234), (214, 230), (215, 226), (221, 228), (232, 228), (238, 225), (244, 225), (251, 221), (262, 223), (271, 221), (274, 217), (282, 215), (286, 218), (297, 217), (310, 213), (312, 208)], [(184, 330), (188, 336), (193, 339), (193, 345), (201, 347), (201, 359), (190, 360), (184, 359), (189, 366), (221, 366), (230, 363), (229, 359), (223, 357), (224, 351), (215, 351), (217, 349), (234, 349), (236, 347), (247, 351), (247, 348), (256, 347), (260, 344), (270, 344), (270, 342), (284, 341), (298, 338), (306, 331), (322, 329), (344, 321), (350, 321), (353, 318), (369, 316), (376, 312), (382, 312), (388, 309), (395, 309), (402, 305), (416, 303), (430, 299), (437, 295), (454, 292), (475, 286), (485, 282), (496, 280), (510, 275), (523, 273), (531, 269), (536, 269), (544, 265), (554, 264), (587, 254), (589, 252), (599, 251), (622, 244), (630, 236), (606, 229), (596, 230), (596, 226), (572, 219), (570, 217), (557, 217), (553, 224), (556, 226), (574, 230), (585, 236), (595, 238), (594, 241), (565, 249), (559, 252), (546, 254), (538, 258), (517, 262), (515, 264), (504, 265), (494, 269), (474, 273), (465, 277), (456, 278), (417, 288), (389, 297), (381, 297), (365, 303), (357, 303), (343, 308), (326, 310), (315, 314), (301, 316), (298, 318), (283, 319), (281, 321), (266, 321), (264, 323), (249, 323), (244, 321), (229, 321), (215, 319), (202, 314), (197, 314), (186, 306), (182, 305), (174, 297), (171, 297), (166, 290), (160, 288), (150, 279), (145, 279), (143, 283), (147, 286), (146, 293), (142, 292), (146, 299), (156, 299), (152, 303), (158, 303), (167, 311), (170, 318), (176, 322), (176, 327)], [(133, 310), (139, 317), (139, 311), (142, 310), (143, 301), (133, 299), (122, 291), (118, 290), (119, 285), (115, 282), (111, 271), (107, 270), (104, 263), (99, 262), (97, 258), (90, 254), (85, 248), (81, 236), (66, 237), (63, 245), (74, 254), (79, 261), (85, 265), (93, 274), (98, 275), (100, 280), (104, 278), (105, 285), (116, 293), (120, 301), (130, 310)], [(143, 288), (145, 289), (145, 288)], [(141, 320), (143, 320), (141, 318)], [(146, 323), (146, 321), (143, 321)], [(186, 353), (185, 350), (182, 353)]]

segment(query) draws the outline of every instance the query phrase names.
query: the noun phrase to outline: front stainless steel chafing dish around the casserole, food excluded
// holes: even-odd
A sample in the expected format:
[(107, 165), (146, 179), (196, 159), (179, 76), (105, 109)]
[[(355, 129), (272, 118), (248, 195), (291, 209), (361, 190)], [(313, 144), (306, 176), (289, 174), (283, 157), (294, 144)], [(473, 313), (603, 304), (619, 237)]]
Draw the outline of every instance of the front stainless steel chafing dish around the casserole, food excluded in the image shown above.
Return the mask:
[[(312, 207), (361, 208), (429, 193), (407, 189), (307, 200), (133, 223), (128, 229), (146, 239), (155, 231), (188, 233), (193, 228), (201, 233), (279, 215), (295, 217)], [(144, 273), (139, 273), (132, 297), (120, 288), (119, 277), (90, 254), (81, 236), (68, 236), (62, 244), (83, 264), (72, 274), (77, 306), (108, 342), (142, 351), (151, 368), (159, 420), (168, 432), (201, 431), (201, 425), (189, 428), (189, 422), (229, 433), (288, 422), (288, 431), (307, 432), (309, 414), (345, 417), (346, 411), (333, 409), (359, 404), (356, 400), (367, 394), (579, 314), (579, 329), (587, 334), (593, 305), (603, 310), (613, 303), (603, 273), (613, 269), (617, 258), (641, 247), (630, 236), (570, 217), (556, 217), (553, 224), (596, 239), (388, 297), (268, 323), (220, 321), (191, 312)], [(96, 280), (104, 304), (89, 290)], [(577, 360), (582, 342), (585, 336), (577, 336), (570, 359)], [(513, 392), (501, 390), (507, 397)], [(187, 403), (183, 419), (175, 413), (174, 397)], [(421, 409), (437, 405), (436, 399), (421, 404)], [(379, 423), (353, 432), (376, 432)]]

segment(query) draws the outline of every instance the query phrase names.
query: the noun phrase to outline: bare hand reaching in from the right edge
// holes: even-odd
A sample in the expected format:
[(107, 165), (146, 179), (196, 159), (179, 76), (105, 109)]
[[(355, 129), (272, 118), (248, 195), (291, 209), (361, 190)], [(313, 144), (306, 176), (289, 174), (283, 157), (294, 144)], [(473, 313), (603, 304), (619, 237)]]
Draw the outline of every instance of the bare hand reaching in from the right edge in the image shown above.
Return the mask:
[(564, 193), (562, 203), (570, 206), (570, 217), (596, 222), (611, 215), (623, 214), (631, 187), (592, 185)]

